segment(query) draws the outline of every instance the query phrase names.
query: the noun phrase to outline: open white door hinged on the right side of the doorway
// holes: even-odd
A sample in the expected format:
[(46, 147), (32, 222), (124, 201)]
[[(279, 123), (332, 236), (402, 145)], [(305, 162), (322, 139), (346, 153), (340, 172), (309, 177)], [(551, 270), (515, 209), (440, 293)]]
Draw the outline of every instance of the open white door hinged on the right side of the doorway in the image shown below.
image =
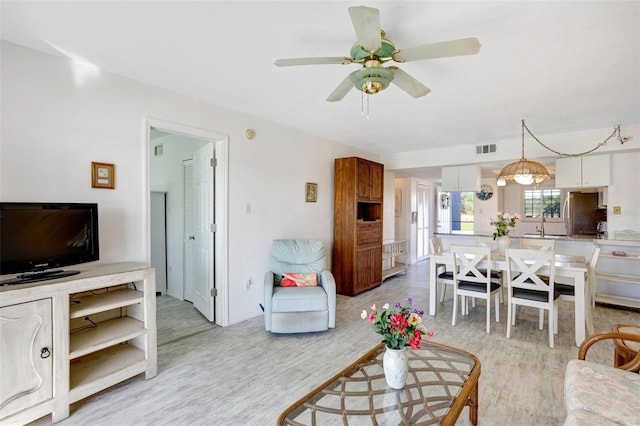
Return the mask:
[(193, 306), (214, 321), (213, 143), (193, 153)]

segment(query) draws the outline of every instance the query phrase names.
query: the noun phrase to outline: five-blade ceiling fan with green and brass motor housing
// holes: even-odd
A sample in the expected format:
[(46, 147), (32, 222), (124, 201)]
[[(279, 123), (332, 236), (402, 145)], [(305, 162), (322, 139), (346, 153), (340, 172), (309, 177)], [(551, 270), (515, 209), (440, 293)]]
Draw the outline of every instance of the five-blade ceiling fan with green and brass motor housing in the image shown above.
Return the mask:
[(396, 49), (391, 41), (384, 38), (385, 33), (380, 29), (378, 9), (366, 6), (350, 7), (349, 14), (358, 38), (351, 48), (350, 57), (289, 58), (278, 59), (275, 62), (278, 67), (361, 64), (362, 68), (349, 74), (329, 95), (329, 102), (341, 100), (353, 87), (365, 94), (373, 95), (386, 89), (389, 83), (394, 83), (414, 98), (425, 96), (431, 89), (397, 66), (384, 67), (382, 64), (388, 61), (402, 63), (447, 56), (475, 55), (480, 51), (480, 42), (475, 37)]

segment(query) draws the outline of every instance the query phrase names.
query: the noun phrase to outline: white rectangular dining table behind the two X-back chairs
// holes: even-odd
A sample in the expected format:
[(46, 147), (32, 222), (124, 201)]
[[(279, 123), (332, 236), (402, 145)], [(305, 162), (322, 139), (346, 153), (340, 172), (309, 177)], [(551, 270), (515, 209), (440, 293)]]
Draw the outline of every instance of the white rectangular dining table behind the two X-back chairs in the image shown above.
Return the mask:
[[(453, 256), (450, 251), (446, 250), (441, 253), (432, 253), (429, 256), (429, 315), (434, 316), (436, 314), (437, 305), (437, 267), (436, 265), (450, 265), (453, 269)], [(491, 265), (488, 262), (481, 262), (478, 264), (479, 268), (488, 268), (491, 266), (491, 270), (507, 270), (507, 261), (503, 255), (497, 252), (491, 253)], [(540, 270), (541, 274), (549, 273), (548, 268)], [(591, 315), (586, 315), (586, 310), (591, 309), (591, 301), (586, 295), (586, 275), (587, 265), (583, 256), (567, 256), (556, 254), (555, 263), (555, 276), (570, 278), (567, 284), (573, 284), (575, 287), (575, 332), (576, 332), (576, 346), (580, 346), (585, 339), (585, 325), (587, 318), (589, 321)], [(564, 283), (564, 281), (563, 281)], [(589, 299), (589, 300), (588, 300)], [(589, 327), (592, 329), (593, 327)]]

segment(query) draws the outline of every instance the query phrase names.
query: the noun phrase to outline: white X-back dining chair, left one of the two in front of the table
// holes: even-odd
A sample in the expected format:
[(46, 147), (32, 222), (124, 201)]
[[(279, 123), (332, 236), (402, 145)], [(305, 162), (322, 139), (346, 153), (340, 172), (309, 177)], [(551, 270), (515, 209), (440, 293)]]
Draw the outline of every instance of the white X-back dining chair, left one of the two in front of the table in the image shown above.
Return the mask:
[[(468, 298), (485, 299), (487, 301), (487, 333), (491, 333), (491, 296), (495, 297), (496, 322), (500, 321), (500, 284), (491, 280), (491, 247), (451, 246), (453, 256), (453, 318), (451, 325), (456, 325), (458, 299), (461, 310), (469, 314)], [(485, 269), (479, 268), (483, 262)]]

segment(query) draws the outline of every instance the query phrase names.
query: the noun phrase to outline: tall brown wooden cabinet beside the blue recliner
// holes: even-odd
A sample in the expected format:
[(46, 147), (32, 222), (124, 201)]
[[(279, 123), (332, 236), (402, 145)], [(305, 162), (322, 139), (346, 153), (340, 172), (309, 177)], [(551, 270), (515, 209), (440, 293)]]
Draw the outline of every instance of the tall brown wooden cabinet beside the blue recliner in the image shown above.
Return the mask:
[(348, 296), (382, 283), (384, 166), (335, 160), (333, 266), (337, 292)]

